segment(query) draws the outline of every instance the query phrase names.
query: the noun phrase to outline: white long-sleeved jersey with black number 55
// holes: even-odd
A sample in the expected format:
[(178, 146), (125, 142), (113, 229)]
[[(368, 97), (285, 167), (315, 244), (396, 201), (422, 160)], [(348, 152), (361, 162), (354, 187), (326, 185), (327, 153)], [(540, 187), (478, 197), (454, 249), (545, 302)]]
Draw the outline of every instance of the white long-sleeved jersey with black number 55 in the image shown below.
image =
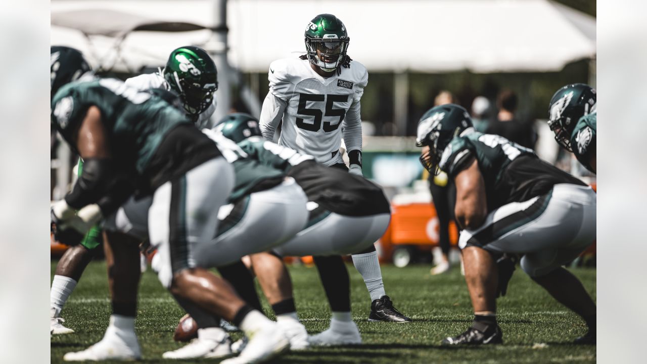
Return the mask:
[(318, 163), (343, 163), (342, 137), (348, 151), (362, 150), (360, 98), (368, 82), (362, 63), (351, 61), (329, 78), (315, 73), (308, 60), (276, 60), (268, 73), (270, 92), (259, 120), (263, 138), (272, 141), (280, 120), (279, 144), (313, 155)]

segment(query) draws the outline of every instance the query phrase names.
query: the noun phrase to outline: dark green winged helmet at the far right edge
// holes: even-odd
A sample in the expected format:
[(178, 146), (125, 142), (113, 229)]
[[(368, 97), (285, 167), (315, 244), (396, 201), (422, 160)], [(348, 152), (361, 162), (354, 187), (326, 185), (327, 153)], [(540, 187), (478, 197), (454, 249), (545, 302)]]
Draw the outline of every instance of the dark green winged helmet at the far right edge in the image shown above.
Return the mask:
[(571, 134), (575, 124), (584, 115), (596, 109), (595, 89), (586, 84), (571, 84), (557, 90), (548, 105), (548, 126), (555, 133), (555, 140), (571, 151)]

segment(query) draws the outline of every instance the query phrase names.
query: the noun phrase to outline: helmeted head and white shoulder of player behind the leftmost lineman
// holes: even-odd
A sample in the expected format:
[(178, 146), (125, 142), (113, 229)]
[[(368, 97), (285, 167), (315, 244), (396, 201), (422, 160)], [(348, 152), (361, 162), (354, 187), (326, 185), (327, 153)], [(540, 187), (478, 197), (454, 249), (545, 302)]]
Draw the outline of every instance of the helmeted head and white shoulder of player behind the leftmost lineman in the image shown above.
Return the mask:
[(214, 60), (204, 49), (179, 47), (171, 52), (164, 69), (140, 74), (126, 80), (126, 85), (140, 90), (162, 88), (179, 95), (182, 108), (199, 128), (212, 128), (218, 89)]

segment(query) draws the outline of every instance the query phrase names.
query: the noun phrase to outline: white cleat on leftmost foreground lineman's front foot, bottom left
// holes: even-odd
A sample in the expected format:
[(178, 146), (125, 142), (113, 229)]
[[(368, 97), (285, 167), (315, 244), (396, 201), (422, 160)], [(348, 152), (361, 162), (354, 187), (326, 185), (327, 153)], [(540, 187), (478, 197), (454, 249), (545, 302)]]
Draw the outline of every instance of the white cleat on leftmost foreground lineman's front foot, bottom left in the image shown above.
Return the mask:
[[(112, 329), (112, 330), (111, 330)], [(119, 333), (108, 327), (105, 336), (93, 346), (79, 352), (69, 352), (65, 361), (138, 360), (142, 352), (134, 332)]]

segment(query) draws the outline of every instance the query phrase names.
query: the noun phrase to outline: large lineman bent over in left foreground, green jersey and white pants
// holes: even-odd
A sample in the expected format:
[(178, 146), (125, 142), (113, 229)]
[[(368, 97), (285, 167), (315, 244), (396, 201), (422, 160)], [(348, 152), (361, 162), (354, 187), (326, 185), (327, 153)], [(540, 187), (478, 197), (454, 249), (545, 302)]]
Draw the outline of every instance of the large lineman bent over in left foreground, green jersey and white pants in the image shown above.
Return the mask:
[[(289, 341), (275, 323), (195, 264), (195, 256), (208, 247), (209, 233), (217, 229), (213, 207), (225, 202), (234, 184), (232, 166), (214, 142), (163, 98), (116, 79), (94, 78), (84, 72), (83, 63), (80, 52), (67, 49), (51, 67), (52, 127), (84, 161), (72, 191), (52, 206), (55, 236), (77, 242), (89, 227), (115, 213), (133, 193), (134, 182), (139, 196), (152, 196), (149, 240), (158, 251), (153, 268), (179, 303), (233, 320), (253, 333), (250, 345), (254, 343), (259, 361), (287, 348)], [(111, 251), (106, 253), (111, 262)], [(111, 270), (121, 269), (115, 265)], [(131, 334), (136, 311), (136, 302), (113, 300), (104, 339), (64, 359), (139, 359), (137, 337)]]

